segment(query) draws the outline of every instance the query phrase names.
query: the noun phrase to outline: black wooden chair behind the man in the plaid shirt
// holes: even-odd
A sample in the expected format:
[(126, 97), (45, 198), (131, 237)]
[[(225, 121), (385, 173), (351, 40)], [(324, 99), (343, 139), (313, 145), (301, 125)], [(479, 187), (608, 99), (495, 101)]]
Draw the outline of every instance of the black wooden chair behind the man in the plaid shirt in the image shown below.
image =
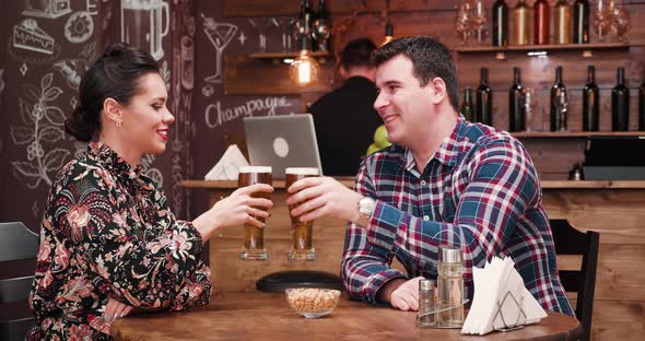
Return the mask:
[(598, 244), (600, 234), (577, 231), (566, 220), (550, 220), (555, 254), (583, 256), (580, 270), (560, 270), (560, 280), (566, 292), (577, 293), (575, 315), (583, 325), (583, 340), (591, 334), (591, 315), (594, 313), (594, 291), (596, 287), (596, 268), (598, 266)]

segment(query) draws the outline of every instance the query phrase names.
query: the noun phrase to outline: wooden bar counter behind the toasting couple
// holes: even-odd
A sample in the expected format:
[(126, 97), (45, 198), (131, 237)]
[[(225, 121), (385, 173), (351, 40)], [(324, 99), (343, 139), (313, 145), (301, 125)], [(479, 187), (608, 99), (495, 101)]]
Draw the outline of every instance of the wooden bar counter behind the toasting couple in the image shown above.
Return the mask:
[[(348, 187), (353, 178), (339, 178)], [(206, 189), (213, 204), (237, 187), (237, 181), (183, 181), (194, 190)], [(265, 232), (269, 260), (238, 259), (243, 228), (227, 228), (211, 238), (210, 267), (216, 292), (253, 292), (262, 275), (282, 270), (321, 270), (338, 274), (345, 223), (320, 219), (314, 224), (316, 261), (293, 263), (285, 254), (291, 245), (284, 181), (273, 181), (274, 207)], [(550, 219), (567, 219), (580, 231), (600, 233), (600, 250), (594, 306), (594, 339), (630, 339), (642, 333), (645, 319), (645, 181), (542, 181), (542, 200)], [(580, 259), (559, 257), (560, 269), (578, 267)], [(394, 268), (403, 269), (396, 260)], [(575, 296), (572, 296), (575, 301)]]

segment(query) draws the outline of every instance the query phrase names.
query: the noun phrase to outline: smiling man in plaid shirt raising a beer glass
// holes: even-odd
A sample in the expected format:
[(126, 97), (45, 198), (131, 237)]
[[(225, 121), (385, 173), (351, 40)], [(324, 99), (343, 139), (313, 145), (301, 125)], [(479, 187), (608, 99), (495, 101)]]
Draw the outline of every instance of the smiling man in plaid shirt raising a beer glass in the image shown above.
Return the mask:
[[(394, 40), (376, 52), (374, 103), (394, 145), (361, 165), (354, 191), (331, 178), (289, 188), (303, 221), (349, 221), (341, 266), (352, 297), (418, 309), (418, 278), (436, 278), (437, 247), (461, 246), (465, 289), (472, 267), (509, 256), (547, 310), (573, 315), (560, 283), (540, 181), (524, 146), (505, 131), (457, 111), (453, 58), (429, 37)], [(390, 269), (394, 257), (408, 277)], [(410, 279), (412, 278), (412, 279)]]

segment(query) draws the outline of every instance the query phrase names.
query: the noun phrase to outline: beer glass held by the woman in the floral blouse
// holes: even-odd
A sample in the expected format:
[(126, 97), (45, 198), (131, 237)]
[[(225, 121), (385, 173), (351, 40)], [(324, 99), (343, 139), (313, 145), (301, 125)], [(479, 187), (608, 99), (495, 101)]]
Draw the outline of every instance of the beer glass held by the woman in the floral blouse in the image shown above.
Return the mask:
[[(271, 185), (271, 167), (243, 166), (237, 176), (237, 187), (246, 187), (255, 184)], [(270, 199), (268, 192), (253, 193), (254, 198)], [(258, 221), (265, 222), (261, 216), (255, 216)], [(265, 228), (250, 223), (244, 224), (244, 245), (239, 258), (242, 260), (267, 260), (268, 254), (265, 248)]]

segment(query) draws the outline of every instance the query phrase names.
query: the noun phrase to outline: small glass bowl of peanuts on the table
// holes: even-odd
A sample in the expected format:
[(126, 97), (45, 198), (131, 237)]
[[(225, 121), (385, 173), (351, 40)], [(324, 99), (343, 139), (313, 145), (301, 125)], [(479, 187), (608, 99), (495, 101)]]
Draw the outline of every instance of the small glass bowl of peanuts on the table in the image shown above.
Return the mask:
[(284, 293), (289, 305), (306, 318), (317, 318), (331, 313), (340, 297), (340, 291), (331, 289), (293, 287)]

